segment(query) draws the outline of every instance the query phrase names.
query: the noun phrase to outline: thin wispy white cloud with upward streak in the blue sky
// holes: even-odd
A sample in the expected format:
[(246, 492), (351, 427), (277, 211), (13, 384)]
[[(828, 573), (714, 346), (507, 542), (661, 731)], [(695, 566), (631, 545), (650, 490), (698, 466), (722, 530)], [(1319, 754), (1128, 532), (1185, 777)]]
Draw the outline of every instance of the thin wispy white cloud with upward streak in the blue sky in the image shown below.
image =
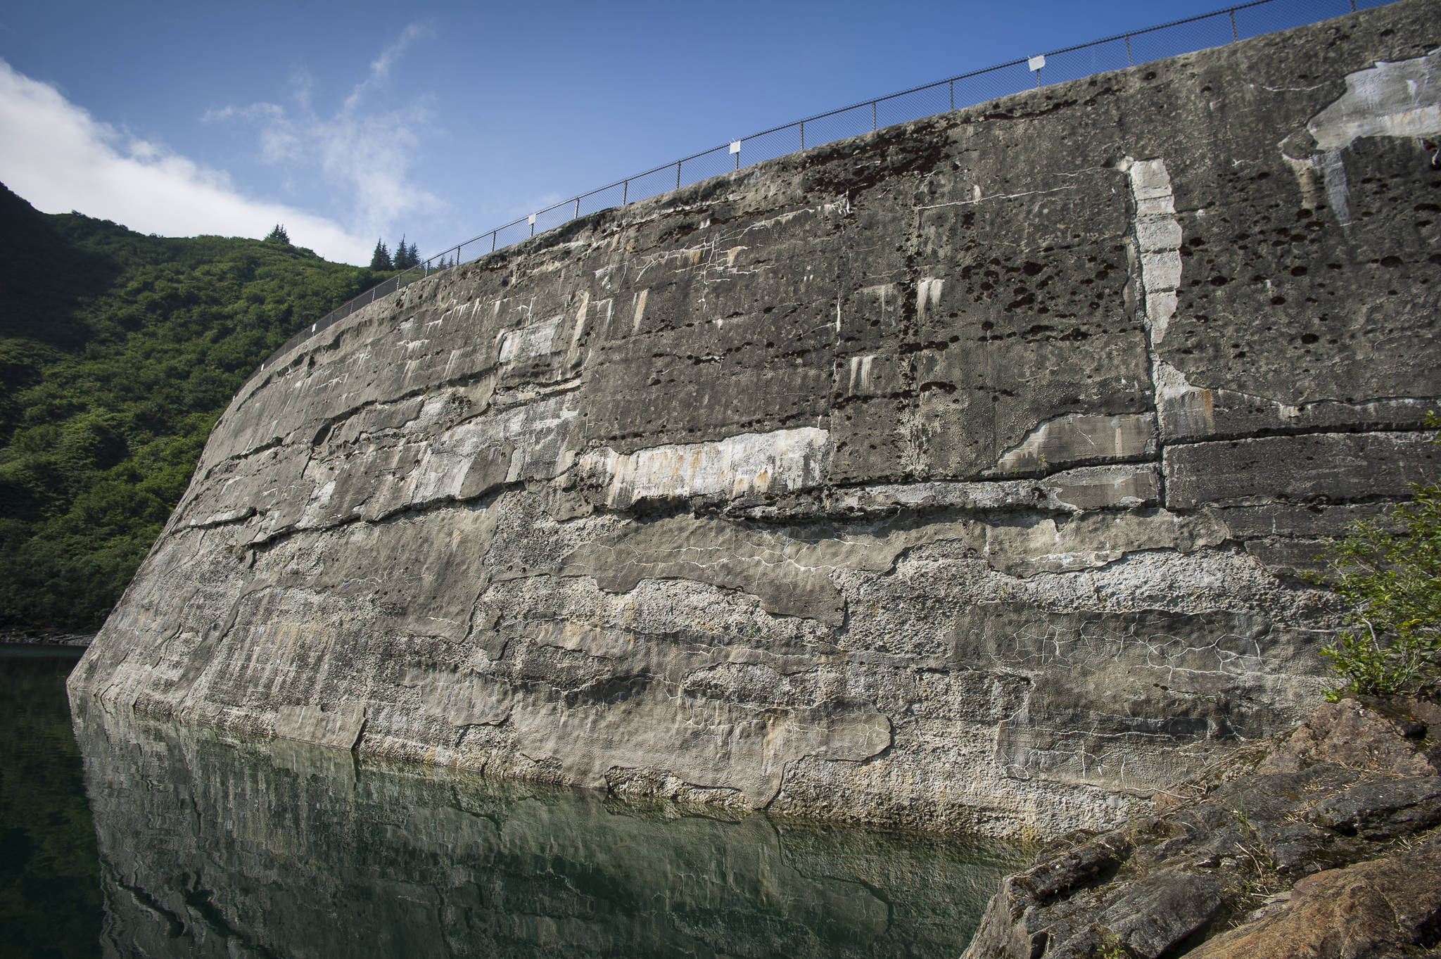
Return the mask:
[(310, 78), (298, 73), (291, 78), (290, 107), (267, 102), (226, 107), (208, 112), (206, 118), (254, 124), (264, 163), (281, 167), (293, 183), (318, 180), (330, 189), (344, 189), (352, 202), (352, 229), (372, 238), (389, 236), (398, 222), (442, 209), (440, 197), (409, 179), (419, 153), (416, 131), (431, 122), (425, 98), (399, 109), (367, 109), (405, 50), (429, 35), (428, 26), (406, 26), (330, 117), (316, 111)]

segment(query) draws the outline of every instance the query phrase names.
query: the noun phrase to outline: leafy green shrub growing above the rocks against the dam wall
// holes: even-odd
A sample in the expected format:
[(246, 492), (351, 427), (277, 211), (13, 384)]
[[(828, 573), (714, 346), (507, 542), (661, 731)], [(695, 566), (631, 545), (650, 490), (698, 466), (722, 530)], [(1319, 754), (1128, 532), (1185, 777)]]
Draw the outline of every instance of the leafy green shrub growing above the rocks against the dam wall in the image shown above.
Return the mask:
[[(1428, 413), (1427, 425), (1441, 419)], [(1331, 589), (1350, 606), (1346, 628), (1321, 649), (1344, 680), (1331, 700), (1415, 693), (1441, 675), (1441, 482), (1412, 490), (1388, 521), (1353, 524), (1324, 557)]]

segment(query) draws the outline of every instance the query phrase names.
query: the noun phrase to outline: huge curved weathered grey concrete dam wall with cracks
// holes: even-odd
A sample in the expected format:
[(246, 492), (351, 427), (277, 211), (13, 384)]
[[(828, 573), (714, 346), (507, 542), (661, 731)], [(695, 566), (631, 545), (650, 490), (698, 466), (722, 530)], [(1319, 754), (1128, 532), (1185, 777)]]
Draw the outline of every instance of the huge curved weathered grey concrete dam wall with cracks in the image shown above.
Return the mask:
[(1293, 723), (1324, 537), (1431, 475), (1441, 3), (782, 157), (254, 377), (105, 708), (989, 834)]

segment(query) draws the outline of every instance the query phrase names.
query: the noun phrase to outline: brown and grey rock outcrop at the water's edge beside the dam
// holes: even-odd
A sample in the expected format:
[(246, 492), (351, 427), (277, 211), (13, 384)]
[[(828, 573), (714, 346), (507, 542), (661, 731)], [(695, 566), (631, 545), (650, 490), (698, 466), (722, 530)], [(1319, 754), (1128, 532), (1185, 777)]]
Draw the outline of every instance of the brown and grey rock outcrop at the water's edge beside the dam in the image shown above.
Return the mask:
[(1327, 704), (1190, 783), (1199, 796), (1163, 796), (1170, 812), (1042, 850), (965, 959), (1434, 956), (1437, 731), (1435, 703)]

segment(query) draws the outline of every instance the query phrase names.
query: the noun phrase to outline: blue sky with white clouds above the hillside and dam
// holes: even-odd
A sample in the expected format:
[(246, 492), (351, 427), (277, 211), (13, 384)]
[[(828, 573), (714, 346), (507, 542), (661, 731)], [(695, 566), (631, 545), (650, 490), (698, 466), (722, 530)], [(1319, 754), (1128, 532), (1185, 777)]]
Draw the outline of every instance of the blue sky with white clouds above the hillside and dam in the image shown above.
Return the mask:
[(330, 259), (402, 232), (428, 255), (803, 115), (1219, 6), (9, 4), (0, 181), (141, 232), (280, 220)]

